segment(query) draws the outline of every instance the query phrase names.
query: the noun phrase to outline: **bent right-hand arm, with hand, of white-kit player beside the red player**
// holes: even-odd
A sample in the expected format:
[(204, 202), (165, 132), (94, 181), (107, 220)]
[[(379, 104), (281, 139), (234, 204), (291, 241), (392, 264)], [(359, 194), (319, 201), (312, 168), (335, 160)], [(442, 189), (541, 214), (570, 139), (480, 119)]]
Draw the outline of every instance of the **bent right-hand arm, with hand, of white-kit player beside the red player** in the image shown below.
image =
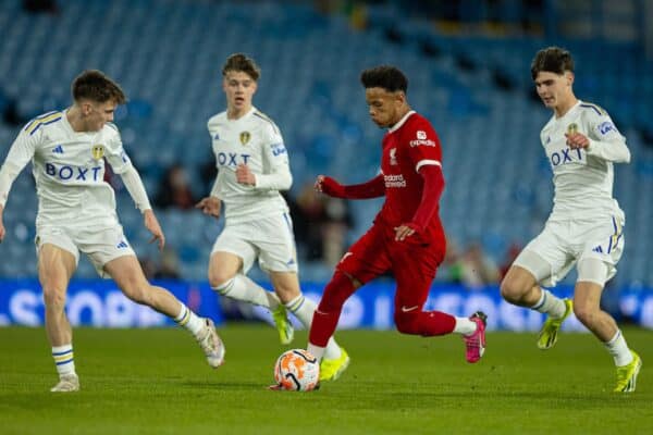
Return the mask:
[(236, 167), (236, 181), (256, 190), (287, 190), (293, 184), (293, 175), (281, 132), (276, 126), (269, 125), (263, 134), (263, 161), (268, 163), (270, 172), (255, 174), (246, 164), (239, 164)]

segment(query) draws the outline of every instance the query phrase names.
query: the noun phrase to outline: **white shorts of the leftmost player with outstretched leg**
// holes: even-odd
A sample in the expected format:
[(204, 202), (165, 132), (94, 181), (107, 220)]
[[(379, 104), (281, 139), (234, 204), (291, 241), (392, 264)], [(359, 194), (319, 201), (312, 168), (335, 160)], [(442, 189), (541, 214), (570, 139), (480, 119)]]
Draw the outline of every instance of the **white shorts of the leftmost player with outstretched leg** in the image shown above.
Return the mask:
[(109, 278), (104, 264), (123, 256), (136, 256), (123, 233), (121, 224), (95, 228), (78, 225), (42, 225), (36, 231), (36, 254), (45, 244), (54, 245), (71, 252), (75, 264), (79, 263), (79, 251), (88, 256), (102, 278)]

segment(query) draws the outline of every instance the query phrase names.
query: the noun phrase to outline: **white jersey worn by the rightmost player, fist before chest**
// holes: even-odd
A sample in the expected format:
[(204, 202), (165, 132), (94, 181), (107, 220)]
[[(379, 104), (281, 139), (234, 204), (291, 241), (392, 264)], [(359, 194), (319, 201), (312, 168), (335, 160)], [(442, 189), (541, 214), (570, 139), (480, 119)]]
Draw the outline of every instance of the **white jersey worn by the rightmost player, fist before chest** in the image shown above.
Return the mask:
[[(587, 136), (590, 146), (569, 148), (565, 134), (572, 132)], [(613, 198), (613, 162), (629, 162), (630, 151), (603, 109), (578, 101), (564, 116), (554, 115), (540, 138), (553, 170), (555, 196), (550, 219), (624, 216)]]

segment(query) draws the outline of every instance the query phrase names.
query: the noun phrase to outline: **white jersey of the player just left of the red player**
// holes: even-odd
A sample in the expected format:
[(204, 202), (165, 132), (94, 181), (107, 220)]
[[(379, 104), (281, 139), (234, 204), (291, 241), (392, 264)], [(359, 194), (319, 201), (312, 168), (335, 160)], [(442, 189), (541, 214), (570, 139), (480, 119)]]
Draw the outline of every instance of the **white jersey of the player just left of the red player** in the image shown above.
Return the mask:
[[(279, 184), (275, 177), (283, 175), (292, 183), (288, 154), (274, 122), (251, 108), (237, 120), (221, 112), (209, 120), (208, 128), (218, 167), (211, 195), (224, 203), (225, 217), (247, 221), (261, 214), (287, 212), (279, 190), (289, 188), (289, 183)], [(236, 182), (235, 171), (241, 163), (255, 174), (256, 186)]]

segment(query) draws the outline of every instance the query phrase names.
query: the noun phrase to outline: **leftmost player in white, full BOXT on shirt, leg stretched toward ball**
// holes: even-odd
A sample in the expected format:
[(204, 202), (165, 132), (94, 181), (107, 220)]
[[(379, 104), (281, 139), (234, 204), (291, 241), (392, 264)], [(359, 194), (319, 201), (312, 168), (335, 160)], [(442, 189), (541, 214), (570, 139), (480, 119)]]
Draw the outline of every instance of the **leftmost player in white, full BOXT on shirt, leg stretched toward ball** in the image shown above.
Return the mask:
[(21, 130), (0, 169), (0, 241), (5, 234), (2, 211), (11, 185), (32, 160), (38, 195), (36, 250), (38, 277), (46, 306), (46, 331), (59, 373), (52, 391), (76, 391), (79, 378), (73, 358), (72, 328), (64, 306), (79, 251), (102, 277), (111, 277), (123, 294), (186, 327), (207, 361), (219, 366), (224, 347), (213, 322), (198, 318), (164, 288), (150, 285), (123, 234), (115, 196), (103, 181), (104, 160), (124, 182), (141, 211), (145, 226), (162, 248), (165, 238), (152, 212), (140, 176), (123, 149), (111, 122), (125, 96), (99, 71), (85, 71), (72, 84), (73, 105), (32, 120)]

